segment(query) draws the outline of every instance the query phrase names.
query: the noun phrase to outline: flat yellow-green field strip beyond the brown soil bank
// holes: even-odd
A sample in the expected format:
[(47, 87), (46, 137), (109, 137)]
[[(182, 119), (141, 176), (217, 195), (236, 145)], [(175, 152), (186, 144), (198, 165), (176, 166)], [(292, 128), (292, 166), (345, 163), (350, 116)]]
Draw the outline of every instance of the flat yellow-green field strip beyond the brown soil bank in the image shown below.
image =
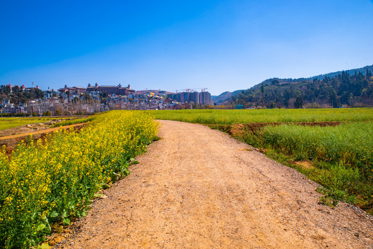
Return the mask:
[(249, 122), (370, 121), (373, 108), (345, 109), (254, 109), (254, 110), (164, 110), (148, 111), (158, 120), (199, 124), (242, 124)]

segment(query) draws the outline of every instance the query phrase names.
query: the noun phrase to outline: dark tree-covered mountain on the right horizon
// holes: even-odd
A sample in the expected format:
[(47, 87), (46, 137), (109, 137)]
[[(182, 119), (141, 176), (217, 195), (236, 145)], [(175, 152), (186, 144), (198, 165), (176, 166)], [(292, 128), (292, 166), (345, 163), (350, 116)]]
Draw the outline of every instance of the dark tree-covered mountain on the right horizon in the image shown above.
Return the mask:
[(373, 65), (309, 78), (272, 78), (251, 89), (235, 91), (228, 99), (224, 100), (221, 96), (219, 101), (253, 107), (262, 106), (264, 97), (264, 105), (267, 108), (368, 107), (373, 106), (372, 71)]

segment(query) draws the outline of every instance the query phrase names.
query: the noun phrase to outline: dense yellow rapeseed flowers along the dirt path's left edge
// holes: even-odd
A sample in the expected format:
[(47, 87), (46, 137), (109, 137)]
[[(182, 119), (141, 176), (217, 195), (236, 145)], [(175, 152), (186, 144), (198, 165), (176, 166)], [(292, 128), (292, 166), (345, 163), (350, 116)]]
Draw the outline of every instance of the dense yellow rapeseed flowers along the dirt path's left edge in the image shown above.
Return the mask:
[(58, 225), (87, 214), (97, 192), (129, 174), (156, 138), (147, 114), (110, 111), (86, 127), (0, 152), (0, 248), (36, 246)]

